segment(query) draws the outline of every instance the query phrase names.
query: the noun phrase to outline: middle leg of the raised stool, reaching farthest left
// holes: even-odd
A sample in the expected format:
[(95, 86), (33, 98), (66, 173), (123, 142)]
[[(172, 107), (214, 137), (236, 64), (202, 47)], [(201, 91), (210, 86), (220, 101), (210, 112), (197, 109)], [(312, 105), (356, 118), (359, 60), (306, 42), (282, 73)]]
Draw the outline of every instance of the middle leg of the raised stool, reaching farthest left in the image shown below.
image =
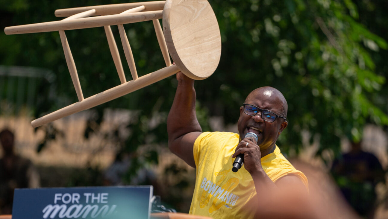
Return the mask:
[(115, 14), (97, 17), (85, 17), (68, 21), (50, 21), (37, 24), (25, 24), (4, 28), (5, 34), (41, 33), (59, 30), (96, 28), (117, 24), (129, 24), (142, 21), (161, 19), (163, 11), (146, 11), (130, 14)]

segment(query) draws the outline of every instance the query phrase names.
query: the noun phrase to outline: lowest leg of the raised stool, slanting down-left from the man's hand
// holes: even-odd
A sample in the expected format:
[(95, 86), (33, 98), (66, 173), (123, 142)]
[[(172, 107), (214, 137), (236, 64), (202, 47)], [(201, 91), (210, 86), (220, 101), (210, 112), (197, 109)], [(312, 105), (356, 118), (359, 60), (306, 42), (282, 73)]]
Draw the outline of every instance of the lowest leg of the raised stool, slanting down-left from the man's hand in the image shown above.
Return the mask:
[(68, 105), (67, 107), (64, 107), (55, 112), (42, 116), (38, 119), (35, 119), (34, 121), (31, 122), (31, 125), (34, 128), (36, 128), (48, 122), (52, 122), (54, 120), (63, 118), (65, 116), (69, 116), (76, 112), (80, 112), (85, 109), (90, 109), (102, 103), (106, 103), (110, 100), (114, 100), (118, 97), (131, 93), (135, 90), (139, 90), (140, 88), (144, 88), (145, 86), (148, 86), (150, 84), (156, 83), (173, 74), (176, 74), (178, 71), (180, 70), (176, 65), (159, 69), (158, 71), (154, 71), (152, 73), (141, 76), (136, 80), (132, 80), (124, 84), (120, 84), (111, 89), (102, 91), (101, 93), (85, 98), (85, 100), (81, 102), (73, 103), (71, 105)]

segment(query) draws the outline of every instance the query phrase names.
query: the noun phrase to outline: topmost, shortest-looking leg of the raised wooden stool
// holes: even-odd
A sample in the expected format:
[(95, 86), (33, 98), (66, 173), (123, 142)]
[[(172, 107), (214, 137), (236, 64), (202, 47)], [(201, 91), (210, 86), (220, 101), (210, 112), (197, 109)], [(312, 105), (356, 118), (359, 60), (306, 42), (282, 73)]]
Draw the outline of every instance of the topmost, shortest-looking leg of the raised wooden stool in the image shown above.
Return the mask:
[(78, 14), (90, 9), (95, 9), (95, 15), (111, 15), (111, 14), (120, 14), (121, 12), (139, 7), (141, 5), (145, 6), (145, 11), (155, 11), (163, 10), (165, 6), (165, 1), (152, 1), (152, 2), (133, 2), (133, 3), (121, 3), (121, 4), (110, 4), (110, 5), (94, 5), (86, 7), (76, 7), (69, 9), (57, 9), (54, 14), (56, 17), (69, 17), (73, 14)]

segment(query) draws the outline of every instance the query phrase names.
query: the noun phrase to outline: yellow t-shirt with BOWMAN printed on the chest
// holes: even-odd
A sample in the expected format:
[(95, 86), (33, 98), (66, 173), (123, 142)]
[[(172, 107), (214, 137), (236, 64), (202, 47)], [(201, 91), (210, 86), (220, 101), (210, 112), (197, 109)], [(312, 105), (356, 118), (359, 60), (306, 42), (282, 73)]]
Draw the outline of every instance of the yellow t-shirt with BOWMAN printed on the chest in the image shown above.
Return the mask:
[[(253, 179), (244, 165), (232, 172), (239, 135), (204, 132), (194, 143), (196, 184), (189, 214), (218, 218), (253, 218), (257, 206)], [(296, 170), (279, 148), (261, 159), (268, 177), (276, 182), (287, 174), (298, 176), (308, 188), (306, 176)]]

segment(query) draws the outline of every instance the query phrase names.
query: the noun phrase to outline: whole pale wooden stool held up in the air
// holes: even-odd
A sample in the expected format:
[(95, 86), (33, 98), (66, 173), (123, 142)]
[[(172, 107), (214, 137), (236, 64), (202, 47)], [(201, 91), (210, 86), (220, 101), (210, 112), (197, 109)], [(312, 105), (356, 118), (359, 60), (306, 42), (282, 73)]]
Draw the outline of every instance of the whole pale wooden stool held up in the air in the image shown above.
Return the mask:
[[(55, 10), (55, 16), (66, 18), (61, 21), (11, 26), (4, 29), (5, 34), (59, 31), (61, 37), (78, 102), (35, 119), (31, 122), (34, 128), (139, 90), (176, 74), (178, 71), (182, 71), (188, 77), (196, 80), (208, 78), (213, 74), (220, 61), (220, 30), (215, 14), (206, 0), (166, 0), (58, 9)], [(158, 20), (162, 18), (163, 31)], [(123, 24), (151, 20), (166, 67), (138, 77)], [(110, 28), (111, 25), (118, 26), (121, 43), (132, 75), (130, 81), (125, 79), (118, 48)], [(121, 84), (84, 98), (64, 31), (95, 27), (104, 27)], [(171, 65), (169, 52), (176, 65)]]

